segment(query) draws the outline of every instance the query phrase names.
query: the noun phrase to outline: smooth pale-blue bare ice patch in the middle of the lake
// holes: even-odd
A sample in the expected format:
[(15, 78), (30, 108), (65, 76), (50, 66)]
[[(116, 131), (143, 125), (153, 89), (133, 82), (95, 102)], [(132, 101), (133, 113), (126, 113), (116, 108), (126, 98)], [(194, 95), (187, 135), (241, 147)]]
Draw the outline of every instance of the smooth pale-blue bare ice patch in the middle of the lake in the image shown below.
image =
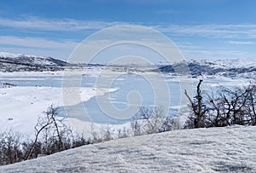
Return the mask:
[[(172, 79), (168, 81), (168, 79)], [(101, 82), (96, 84), (96, 77), (83, 77), (82, 86), (90, 84), (90, 87), (95, 86), (97, 88), (108, 87), (106, 83)], [(103, 80), (112, 80), (111, 77), (104, 78)], [(153, 78), (153, 83), (159, 83), (159, 78)], [(175, 77), (166, 78), (166, 84), (168, 92), (165, 89), (160, 90), (159, 95), (170, 95), (168, 104), (170, 108), (170, 116), (173, 116), (177, 112), (177, 106), (180, 105), (181, 89), (180, 84)], [(158, 85), (158, 88), (161, 86)], [(143, 78), (141, 75), (135, 73), (122, 74), (119, 78), (115, 78), (111, 84), (111, 88), (116, 89), (114, 92), (110, 92), (106, 95), (97, 95), (90, 98), (89, 101), (84, 101), (83, 107), (80, 104), (66, 107), (69, 111), (69, 117), (79, 118), (82, 121), (93, 121), (99, 124), (123, 124), (131, 121), (131, 116), (134, 114), (127, 114), (129, 110), (138, 110), (140, 106), (154, 107), (158, 95), (155, 94), (155, 88), (152, 85), (152, 81), (148, 81), (147, 78)], [(132, 95), (133, 94), (133, 95)], [(165, 101), (166, 98), (163, 98)], [(109, 104), (111, 102), (111, 104)], [(109, 104), (109, 107), (104, 107), (105, 104)], [(185, 103), (182, 103), (185, 104)], [(157, 105), (158, 107), (164, 107), (165, 105)], [(174, 108), (173, 108), (174, 107)], [(84, 116), (83, 112), (89, 116)], [(117, 114), (112, 117), (112, 115)], [(89, 118), (89, 119), (88, 119)]]

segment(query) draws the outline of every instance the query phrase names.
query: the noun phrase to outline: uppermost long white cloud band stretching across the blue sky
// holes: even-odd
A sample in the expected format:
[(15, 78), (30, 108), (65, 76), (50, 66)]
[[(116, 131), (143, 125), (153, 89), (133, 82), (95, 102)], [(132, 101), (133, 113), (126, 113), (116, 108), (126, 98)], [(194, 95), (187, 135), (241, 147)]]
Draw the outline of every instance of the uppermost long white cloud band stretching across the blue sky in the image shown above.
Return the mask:
[[(173, 10), (160, 10), (156, 13), (177, 13)], [(24, 28), (36, 31), (80, 31), (101, 30), (110, 26), (134, 24), (150, 26), (148, 23), (127, 23), (122, 21), (44, 19), (29, 16), (20, 20), (0, 18), (0, 26)], [(256, 25), (170, 25), (153, 23), (154, 29), (177, 36), (219, 37), (219, 38), (256, 38)]]

